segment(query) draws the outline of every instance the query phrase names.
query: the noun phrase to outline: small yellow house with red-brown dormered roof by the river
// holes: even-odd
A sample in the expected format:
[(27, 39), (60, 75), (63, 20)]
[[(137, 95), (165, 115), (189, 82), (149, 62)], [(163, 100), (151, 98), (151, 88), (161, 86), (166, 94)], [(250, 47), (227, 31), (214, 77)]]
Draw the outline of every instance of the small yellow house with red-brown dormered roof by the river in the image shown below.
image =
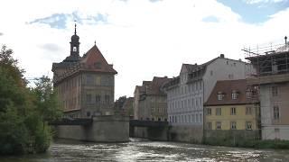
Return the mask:
[(260, 113), (255, 96), (246, 79), (218, 81), (204, 103), (204, 138), (233, 138), (234, 142), (236, 137), (258, 138)]

